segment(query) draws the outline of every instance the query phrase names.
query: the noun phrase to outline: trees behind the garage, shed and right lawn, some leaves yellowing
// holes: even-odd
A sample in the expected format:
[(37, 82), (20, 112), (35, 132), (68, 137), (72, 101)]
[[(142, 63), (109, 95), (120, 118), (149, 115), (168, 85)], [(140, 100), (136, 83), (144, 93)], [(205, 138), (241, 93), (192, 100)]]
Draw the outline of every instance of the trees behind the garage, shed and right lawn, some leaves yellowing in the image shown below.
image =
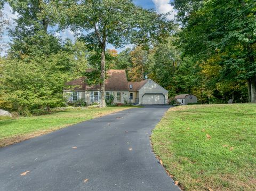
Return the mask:
[(179, 27), (147, 51), (126, 49), (115, 67), (130, 80), (151, 78), (169, 96), (193, 93), (201, 103), (256, 102), (256, 3), (176, 0)]

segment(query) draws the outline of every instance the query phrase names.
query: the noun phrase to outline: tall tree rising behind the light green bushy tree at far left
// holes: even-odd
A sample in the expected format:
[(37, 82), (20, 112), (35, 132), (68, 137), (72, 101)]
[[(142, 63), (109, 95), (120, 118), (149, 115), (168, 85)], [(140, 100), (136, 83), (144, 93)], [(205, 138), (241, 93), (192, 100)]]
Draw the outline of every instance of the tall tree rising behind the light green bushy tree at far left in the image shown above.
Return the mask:
[[(47, 10), (46, 5), (50, 0), (7, 0), (12, 11), (18, 14), (15, 19), (15, 27), (9, 29), (12, 37), (10, 56), (19, 57), (36, 53), (50, 55), (60, 49), (59, 39), (49, 32), (52, 21), (52, 12)], [(35, 52), (34, 49), (38, 52)]]

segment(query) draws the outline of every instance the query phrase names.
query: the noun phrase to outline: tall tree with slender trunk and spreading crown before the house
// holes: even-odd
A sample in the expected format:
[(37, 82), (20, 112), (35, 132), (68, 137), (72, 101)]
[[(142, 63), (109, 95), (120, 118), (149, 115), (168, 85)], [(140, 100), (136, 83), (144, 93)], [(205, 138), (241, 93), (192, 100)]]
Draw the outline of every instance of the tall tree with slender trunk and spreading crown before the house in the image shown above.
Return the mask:
[[(51, 5), (52, 6), (52, 5)], [(164, 15), (136, 6), (131, 0), (56, 1), (60, 26), (70, 27), (79, 37), (101, 50), (101, 103), (105, 102), (106, 44), (121, 47), (149, 43), (166, 36), (171, 24)], [(49, 8), (50, 9), (50, 8)]]

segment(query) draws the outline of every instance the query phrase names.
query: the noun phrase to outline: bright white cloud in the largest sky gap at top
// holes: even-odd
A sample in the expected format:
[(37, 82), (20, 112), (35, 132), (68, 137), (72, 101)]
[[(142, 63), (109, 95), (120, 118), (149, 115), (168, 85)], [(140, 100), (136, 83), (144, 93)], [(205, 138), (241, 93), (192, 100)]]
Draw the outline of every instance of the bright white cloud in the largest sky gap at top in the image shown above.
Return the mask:
[(173, 9), (173, 6), (170, 4), (170, 0), (152, 0), (155, 4), (156, 11), (158, 13), (169, 13), (170, 15), (167, 16), (168, 20), (174, 19), (174, 16), (176, 14), (175, 10)]

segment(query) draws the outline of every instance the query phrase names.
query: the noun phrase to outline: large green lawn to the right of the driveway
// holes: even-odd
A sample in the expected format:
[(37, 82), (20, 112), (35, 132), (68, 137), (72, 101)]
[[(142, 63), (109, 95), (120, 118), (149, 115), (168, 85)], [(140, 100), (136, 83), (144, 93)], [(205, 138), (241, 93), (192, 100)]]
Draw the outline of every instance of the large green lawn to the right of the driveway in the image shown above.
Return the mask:
[(256, 104), (172, 107), (151, 142), (183, 190), (256, 190)]

